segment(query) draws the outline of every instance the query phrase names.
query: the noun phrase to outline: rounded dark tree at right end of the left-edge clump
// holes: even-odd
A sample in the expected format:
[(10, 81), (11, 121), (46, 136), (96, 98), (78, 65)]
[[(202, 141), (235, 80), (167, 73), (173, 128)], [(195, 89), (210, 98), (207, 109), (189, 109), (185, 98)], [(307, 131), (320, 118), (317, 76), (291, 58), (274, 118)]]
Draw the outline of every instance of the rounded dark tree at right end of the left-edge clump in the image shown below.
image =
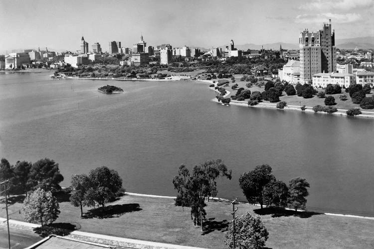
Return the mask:
[(60, 182), (64, 177), (60, 174), (58, 163), (44, 158), (32, 164), (27, 184), (31, 189), (42, 188), (45, 191), (60, 190)]

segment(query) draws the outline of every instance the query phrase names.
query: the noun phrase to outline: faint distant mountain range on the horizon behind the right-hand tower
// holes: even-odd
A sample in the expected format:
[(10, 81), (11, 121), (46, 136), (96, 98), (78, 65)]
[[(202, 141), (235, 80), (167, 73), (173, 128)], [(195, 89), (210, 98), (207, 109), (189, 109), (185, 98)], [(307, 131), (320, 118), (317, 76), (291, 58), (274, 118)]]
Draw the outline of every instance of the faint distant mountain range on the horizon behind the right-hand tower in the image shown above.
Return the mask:
[[(347, 39), (336, 39), (335, 44), (340, 49), (355, 49), (357, 48), (373, 48), (374, 49), (374, 36), (366, 36), (366, 37), (356, 37), (356, 38), (347, 38)], [(253, 43), (246, 43), (246, 44), (235, 44), (235, 48), (239, 50), (247, 50), (247, 49), (256, 49), (259, 50), (262, 47), (264, 49), (273, 49), (279, 50), (280, 45), (282, 45), (283, 49), (299, 49), (299, 44), (297, 43), (284, 43), (284, 42), (275, 42), (275, 43), (266, 43), (262, 45), (257, 45)], [(219, 48), (222, 50), (225, 49), (227, 45), (221, 45)], [(192, 47), (195, 48), (195, 47)], [(197, 47), (202, 51), (207, 51), (210, 49)]]

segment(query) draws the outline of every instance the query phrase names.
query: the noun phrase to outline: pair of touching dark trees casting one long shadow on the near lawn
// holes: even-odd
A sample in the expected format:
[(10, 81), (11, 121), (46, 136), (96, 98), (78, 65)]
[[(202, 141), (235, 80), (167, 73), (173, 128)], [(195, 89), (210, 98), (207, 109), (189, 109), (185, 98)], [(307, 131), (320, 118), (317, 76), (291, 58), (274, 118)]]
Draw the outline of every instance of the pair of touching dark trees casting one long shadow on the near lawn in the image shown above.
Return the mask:
[(122, 179), (118, 172), (106, 166), (92, 169), (88, 175), (76, 174), (71, 177), (70, 203), (80, 207), (81, 217), (83, 206), (104, 207), (111, 199), (125, 193), (122, 188)]

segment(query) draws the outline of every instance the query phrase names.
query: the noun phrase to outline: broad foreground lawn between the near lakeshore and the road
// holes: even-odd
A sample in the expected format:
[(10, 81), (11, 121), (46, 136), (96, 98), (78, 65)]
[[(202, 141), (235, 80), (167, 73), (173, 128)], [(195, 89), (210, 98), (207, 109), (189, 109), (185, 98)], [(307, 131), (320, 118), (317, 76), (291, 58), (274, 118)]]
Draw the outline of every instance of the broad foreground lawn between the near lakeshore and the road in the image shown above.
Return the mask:
[[(0, 208), (4, 205), (0, 204)], [(9, 208), (11, 219), (23, 221), (18, 213), (21, 203)], [(259, 212), (257, 206), (237, 205), (237, 215)], [(69, 202), (60, 203), (61, 214), (55, 223), (78, 223), (83, 232), (105, 234), (131, 239), (155, 241), (202, 248), (227, 248), (222, 231), (232, 220), (232, 206), (223, 201), (207, 203), (204, 233), (191, 221), (189, 208), (176, 207), (173, 199), (125, 195), (108, 203), (106, 212), (87, 212)], [(5, 217), (5, 210), (0, 209)], [(316, 213), (262, 210), (260, 215), (268, 232), (267, 248), (373, 248), (374, 220), (330, 216)]]

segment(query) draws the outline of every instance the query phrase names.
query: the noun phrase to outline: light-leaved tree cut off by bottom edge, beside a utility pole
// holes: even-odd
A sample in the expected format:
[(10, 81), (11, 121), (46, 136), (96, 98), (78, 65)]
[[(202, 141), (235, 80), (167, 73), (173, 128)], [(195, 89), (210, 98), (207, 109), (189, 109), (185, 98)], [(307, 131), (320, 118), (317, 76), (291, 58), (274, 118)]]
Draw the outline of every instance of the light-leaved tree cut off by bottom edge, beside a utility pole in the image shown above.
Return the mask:
[(232, 235), (235, 234), (235, 247), (243, 249), (260, 249), (265, 246), (265, 242), (269, 238), (265, 225), (259, 216), (252, 216), (246, 213), (240, 217), (235, 217), (235, 231), (233, 223), (226, 232), (223, 233), (224, 243), (229, 248), (233, 248)]

